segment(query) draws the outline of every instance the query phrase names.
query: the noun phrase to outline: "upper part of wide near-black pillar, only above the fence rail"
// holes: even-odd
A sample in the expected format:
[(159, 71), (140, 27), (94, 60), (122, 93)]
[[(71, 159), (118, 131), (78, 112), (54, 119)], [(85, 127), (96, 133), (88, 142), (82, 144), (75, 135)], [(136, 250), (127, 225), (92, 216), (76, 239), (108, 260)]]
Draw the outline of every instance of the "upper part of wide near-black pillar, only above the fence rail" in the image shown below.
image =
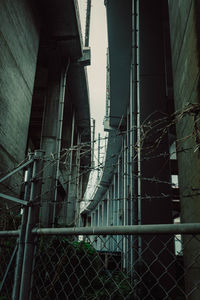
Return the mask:
[[(141, 123), (148, 118), (149, 122), (162, 118), (167, 109), (167, 95), (165, 86), (165, 65), (162, 30), (162, 3), (140, 1), (140, 110)], [(158, 112), (159, 113), (156, 113)], [(153, 115), (153, 117), (151, 117)], [(162, 124), (163, 126), (163, 124)], [(161, 193), (170, 194), (170, 170), (168, 158), (160, 158), (159, 154), (168, 153), (168, 136), (160, 137), (157, 126), (149, 135), (142, 139), (142, 157), (155, 156), (154, 159), (142, 160), (142, 196), (149, 195), (151, 199), (142, 200), (142, 223), (171, 223), (171, 199), (161, 198)], [(145, 130), (145, 129), (144, 129)], [(158, 132), (158, 133), (157, 133)], [(156, 157), (158, 156), (158, 157)], [(145, 178), (157, 177), (163, 183), (152, 183)], [(158, 199), (155, 197), (158, 196)]]

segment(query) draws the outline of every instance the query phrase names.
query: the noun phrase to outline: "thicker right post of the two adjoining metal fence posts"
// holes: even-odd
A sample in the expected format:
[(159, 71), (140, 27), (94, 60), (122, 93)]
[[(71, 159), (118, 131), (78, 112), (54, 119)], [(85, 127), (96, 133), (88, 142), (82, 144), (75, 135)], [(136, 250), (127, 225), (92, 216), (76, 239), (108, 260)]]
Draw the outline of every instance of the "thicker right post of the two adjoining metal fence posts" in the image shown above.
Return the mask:
[(29, 299), (30, 293), (32, 265), (35, 249), (35, 239), (32, 235), (32, 229), (38, 222), (40, 187), (42, 183), (43, 155), (44, 151), (42, 150), (36, 150), (34, 153), (33, 173), (30, 191), (30, 205), (28, 207), (28, 220), (26, 226), (24, 258), (19, 295), (19, 299), (21, 300)]

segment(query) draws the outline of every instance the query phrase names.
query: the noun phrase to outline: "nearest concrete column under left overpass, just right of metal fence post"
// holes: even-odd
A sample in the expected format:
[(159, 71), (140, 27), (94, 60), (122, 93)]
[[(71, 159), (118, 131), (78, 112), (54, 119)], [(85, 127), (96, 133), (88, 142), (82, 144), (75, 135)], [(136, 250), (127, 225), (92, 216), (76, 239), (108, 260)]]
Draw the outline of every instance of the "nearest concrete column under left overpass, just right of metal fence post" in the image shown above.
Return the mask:
[(57, 51), (52, 51), (48, 58), (48, 87), (45, 103), (44, 125), (41, 148), (45, 151), (42, 207), (40, 221), (42, 226), (53, 223), (53, 202), (56, 189), (57, 127), (59, 122), (59, 97), (61, 80), (61, 61)]

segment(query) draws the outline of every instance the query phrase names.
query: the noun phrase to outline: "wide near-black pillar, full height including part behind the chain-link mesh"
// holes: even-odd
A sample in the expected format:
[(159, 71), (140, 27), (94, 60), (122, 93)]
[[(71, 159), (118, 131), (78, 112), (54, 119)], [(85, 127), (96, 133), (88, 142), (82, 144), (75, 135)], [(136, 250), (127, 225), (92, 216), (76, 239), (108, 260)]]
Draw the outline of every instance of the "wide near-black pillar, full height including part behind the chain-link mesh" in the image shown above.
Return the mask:
[[(141, 124), (148, 119), (154, 122), (166, 113), (167, 94), (165, 85), (165, 60), (163, 45), (163, 4), (165, 0), (140, 0), (139, 1), (139, 96), (140, 96), (140, 118)], [(164, 126), (162, 124), (162, 126)], [(172, 203), (170, 197), (162, 197), (162, 194), (170, 195), (170, 169), (169, 160), (161, 157), (159, 154), (168, 153), (168, 135), (165, 131), (159, 131), (161, 126), (154, 127), (149, 134), (144, 135), (141, 132), (141, 222), (142, 224), (161, 224), (172, 223)], [(149, 128), (143, 128), (144, 132)], [(162, 132), (162, 135), (161, 135)], [(157, 140), (161, 137), (160, 142)], [(151, 157), (154, 156), (153, 159)], [(144, 157), (147, 159), (144, 160)], [(148, 159), (148, 157), (150, 159)], [(149, 178), (158, 178), (159, 183), (149, 181)], [(167, 183), (165, 183), (167, 182)], [(149, 196), (149, 198), (147, 197)], [(152, 288), (150, 282), (157, 278), (154, 288), (151, 290), (151, 296), (156, 299), (166, 297), (166, 292), (174, 286), (171, 276), (173, 272), (162, 274), (159, 268), (168, 268), (173, 258), (174, 245), (169, 242), (170, 236), (159, 236), (154, 239), (150, 246), (147, 243), (151, 241), (152, 236), (142, 237), (142, 261), (147, 265), (152, 261), (152, 253), (157, 257), (157, 261), (148, 269), (146, 276), (147, 289)], [(168, 242), (168, 250), (163, 249), (163, 245)], [(162, 255), (160, 254), (162, 252)], [(171, 253), (170, 253), (171, 252)], [(141, 272), (146, 269), (141, 265)], [(141, 273), (142, 275), (142, 273)], [(142, 292), (141, 292), (142, 291)], [(145, 297), (146, 287), (141, 289), (140, 297)], [(169, 295), (170, 298), (171, 295)]]

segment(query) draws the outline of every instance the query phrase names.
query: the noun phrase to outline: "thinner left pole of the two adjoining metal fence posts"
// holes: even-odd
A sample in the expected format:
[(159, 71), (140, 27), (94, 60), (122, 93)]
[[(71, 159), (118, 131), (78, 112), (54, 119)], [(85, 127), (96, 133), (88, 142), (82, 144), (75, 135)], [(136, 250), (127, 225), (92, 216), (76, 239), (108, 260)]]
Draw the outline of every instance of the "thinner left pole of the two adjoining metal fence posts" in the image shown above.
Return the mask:
[[(29, 160), (31, 160), (32, 158), (33, 158), (33, 154), (31, 153), (29, 155)], [(29, 201), (29, 198), (30, 198), (31, 176), (32, 176), (32, 164), (29, 165), (29, 167), (28, 167), (27, 178), (26, 178), (26, 182), (25, 182), (24, 200), (26, 200), (26, 201)], [(25, 239), (25, 233), (26, 233), (27, 219), (28, 219), (28, 207), (25, 206), (23, 208), (20, 234), (19, 234), (19, 239), (18, 239), (18, 250), (17, 250), (17, 257), (16, 257), (14, 285), (13, 285), (13, 291), (12, 291), (12, 299), (13, 300), (19, 299), (19, 291), (20, 291), (20, 283), (21, 283), (21, 275), (22, 275), (22, 265), (23, 265), (23, 257), (24, 257), (24, 239)]]

